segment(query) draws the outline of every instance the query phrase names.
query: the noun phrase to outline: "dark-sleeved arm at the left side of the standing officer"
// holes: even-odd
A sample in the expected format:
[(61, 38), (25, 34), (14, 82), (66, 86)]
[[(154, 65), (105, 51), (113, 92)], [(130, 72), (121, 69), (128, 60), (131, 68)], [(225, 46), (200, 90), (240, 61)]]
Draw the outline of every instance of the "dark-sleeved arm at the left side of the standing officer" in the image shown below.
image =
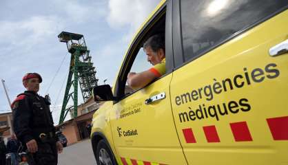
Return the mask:
[(25, 97), (21, 100), (18, 100), (14, 105), (13, 109), (13, 129), (17, 138), (22, 142), (29, 142), (33, 139), (32, 129), (29, 126), (30, 121), (32, 120), (32, 109), (28, 104), (28, 98)]

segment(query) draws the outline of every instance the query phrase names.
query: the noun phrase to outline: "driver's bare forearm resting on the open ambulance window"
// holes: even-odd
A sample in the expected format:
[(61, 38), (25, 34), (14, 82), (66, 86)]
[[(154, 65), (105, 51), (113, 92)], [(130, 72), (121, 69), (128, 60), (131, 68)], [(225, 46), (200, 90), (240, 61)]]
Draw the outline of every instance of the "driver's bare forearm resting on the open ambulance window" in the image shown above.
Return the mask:
[(127, 83), (130, 87), (132, 87), (132, 89), (140, 89), (152, 82), (152, 80), (155, 78), (157, 78), (157, 76), (150, 72), (150, 70), (146, 70), (138, 74), (129, 73), (127, 76)]

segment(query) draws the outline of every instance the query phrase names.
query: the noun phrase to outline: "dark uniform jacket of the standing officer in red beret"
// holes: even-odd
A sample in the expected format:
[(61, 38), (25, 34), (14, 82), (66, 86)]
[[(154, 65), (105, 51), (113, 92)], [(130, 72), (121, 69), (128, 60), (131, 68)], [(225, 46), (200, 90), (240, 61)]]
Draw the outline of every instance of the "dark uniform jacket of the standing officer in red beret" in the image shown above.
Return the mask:
[(19, 94), (11, 104), (13, 109), (13, 129), (17, 138), (26, 144), (39, 140), (41, 133), (55, 133), (50, 102), (34, 91)]

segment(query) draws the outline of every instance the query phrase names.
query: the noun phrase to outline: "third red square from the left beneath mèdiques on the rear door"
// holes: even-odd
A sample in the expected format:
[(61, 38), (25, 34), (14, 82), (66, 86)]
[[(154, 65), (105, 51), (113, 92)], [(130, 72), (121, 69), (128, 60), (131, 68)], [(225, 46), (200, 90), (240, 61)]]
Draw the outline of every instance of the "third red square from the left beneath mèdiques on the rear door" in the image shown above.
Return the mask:
[(230, 127), (236, 142), (253, 141), (247, 122), (232, 122), (230, 123)]

